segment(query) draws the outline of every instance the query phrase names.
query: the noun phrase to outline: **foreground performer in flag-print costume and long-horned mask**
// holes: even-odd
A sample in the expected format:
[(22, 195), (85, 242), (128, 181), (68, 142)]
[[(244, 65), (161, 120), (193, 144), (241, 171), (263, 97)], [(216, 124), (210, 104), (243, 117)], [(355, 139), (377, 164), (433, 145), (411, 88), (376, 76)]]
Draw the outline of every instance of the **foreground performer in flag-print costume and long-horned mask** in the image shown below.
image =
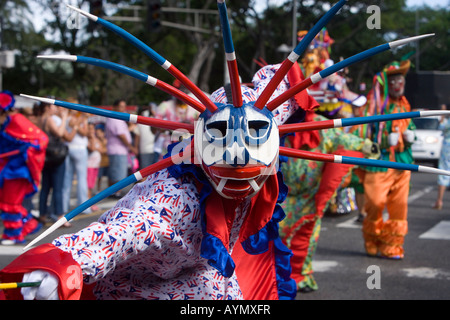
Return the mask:
[[(305, 37), (308, 39), (305, 43), (314, 38), (344, 4), (341, 0), (331, 8), (311, 32), (311, 37)], [(277, 170), (278, 157), (285, 155), (343, 164), (359, 164), (360, 158), (279, 146), (280, 135), (305, 128), (302, 123), (283, 124), (304, 106), (291, 99), (299, 93), (297, 85), (281, 83), (292, 61), (303, 53), (304, 43), (277, 66), (270, 81), (267, 82), (267, 70), (263, 68), (256, 77), (254, 90), (242, 86), (224, 1), (218, 1), (218, 7), (230, 73), (231, 99), (223, 89), (208, 98), (175, 66), (140, 40), (102, 18), (74, 8), (143, 50), (180, 80), (198, 100), (149, 75), (112, 62), (81, 56), (70, 56), (70, 61), (94, 64), (133, 76), (181, 98), (201, 115), (192, 125), (28, 96), (128, 122), (171, 130), (181, 128), (193, 133), (193, 137), (173, 145), (165, 159), (98, 193), (30, 243), (26, 250), (86, 207), (147, 178), (136, 184), (98, 222), (77, 233), (60, 236), (51, 244), (32, 248), (4, 268), (0, 272), (0, 281), (40, 282), (39, 287), (24, 288), (22, 293), (11, 290), (8, 292), (10, 298), (23, 295), (26, 299), (77, 299), (81, 297), (81, 291), (97, 299), (295, 297), (295, 283), (290, 279), (290, 251), (278, 235), (278, 223), (284, 218), (279, 203), (287, 192), (282, 174)], [(380, 49), (389, 50), (408, 41), (389, 43)], [(381, 52), (378, 50), (368, 50), (358, 59)], [(58, 58), (67, 59), (67, 56)], [(344, 60), (334, 67), (340, 69), (358, 59)], [(334, 69), (328, 71), (335, 72)], [(328, 71), (322, 72), (320, 77), (326, 77)], [(318, 76), (313, 79), (317, 80)], [(309, 79), (300, 85), (304, 90), (312, 82)], [(377, 121), (384, 120), (378, 118)], [(320, 125), (323, 129), (346, 124), (333, 121)], [(367, 160), (364, 163), (393, 166)], [(423, 170), (420, 166), (405, 169)], [(245, 254), (233, 258), (233, 251), (239, 246)], [(244, 259), (249, 255), (254, 257), (249, 261), (255, 262), (258, 268), (249, 270), (246, 266)], [(253, 277), (245, 278), (243, 274), (250, 271)], [(268, 274), (270, 277), (265, 277)], [(261, 287), (275, 290), (267, 292)]]

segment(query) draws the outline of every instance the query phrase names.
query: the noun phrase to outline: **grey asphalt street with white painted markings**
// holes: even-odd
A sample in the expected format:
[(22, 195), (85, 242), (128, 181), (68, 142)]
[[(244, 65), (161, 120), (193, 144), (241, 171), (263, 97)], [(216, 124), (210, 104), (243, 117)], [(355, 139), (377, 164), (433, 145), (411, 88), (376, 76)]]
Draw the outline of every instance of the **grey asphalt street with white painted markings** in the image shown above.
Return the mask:
[[(437, 194), (436, 178), (430, 174), (412, 174), (409, 233), (403, 260), (367, 256), (356, 213), (326, 215), (313, 261), (319, 290), (298, 293), (296, 300), (450, 299), (450, 191), (446, 193), (443, 209), (432, 209)], [(116, 201), (103, 200), (98, 204), (100, 211), (76, 217), (71, 228), (60, 228), (40, 243), (88, 226)], [(0, 246), (0, 268), (19, 255), (23, 247)]]

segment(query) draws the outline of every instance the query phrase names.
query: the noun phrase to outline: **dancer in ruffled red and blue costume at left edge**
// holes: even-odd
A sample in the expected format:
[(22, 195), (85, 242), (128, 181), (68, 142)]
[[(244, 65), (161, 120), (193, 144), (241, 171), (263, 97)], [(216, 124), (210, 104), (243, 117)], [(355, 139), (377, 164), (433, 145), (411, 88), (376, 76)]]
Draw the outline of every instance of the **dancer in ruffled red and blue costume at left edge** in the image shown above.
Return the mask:
[(14, 110), (14, 95), (0, 93), (0, 212), (2, 245), (25, 242), (40, 228), (22, 202), (38, 191), (45, 162), (47, 135)]

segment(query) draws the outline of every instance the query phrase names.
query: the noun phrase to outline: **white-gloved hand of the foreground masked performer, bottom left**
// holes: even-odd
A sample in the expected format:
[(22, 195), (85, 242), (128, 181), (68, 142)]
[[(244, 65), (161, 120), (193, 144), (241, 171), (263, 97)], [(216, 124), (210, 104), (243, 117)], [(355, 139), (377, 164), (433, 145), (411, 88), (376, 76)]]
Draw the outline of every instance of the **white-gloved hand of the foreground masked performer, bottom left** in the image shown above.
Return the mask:
[(24, 300), (59, 300), (57, 277), (42, 270), (26, 273), (23, 276), (23, 282), (38, 281), (41, 281), (39, 287), (26, 287), (20, 290)]

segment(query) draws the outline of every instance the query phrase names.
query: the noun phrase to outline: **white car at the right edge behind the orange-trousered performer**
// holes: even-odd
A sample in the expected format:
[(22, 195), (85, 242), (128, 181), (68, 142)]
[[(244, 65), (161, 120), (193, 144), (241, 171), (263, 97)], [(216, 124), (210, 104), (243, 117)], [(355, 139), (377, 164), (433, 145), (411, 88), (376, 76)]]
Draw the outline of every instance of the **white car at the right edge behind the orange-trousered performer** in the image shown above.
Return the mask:
[(415, 160), (432, 162), (437, 166), (441, 155), (444, 134), (439, 130), (439, 116), (413, 118), (416, 125), (416, 141), (411, 146)]

